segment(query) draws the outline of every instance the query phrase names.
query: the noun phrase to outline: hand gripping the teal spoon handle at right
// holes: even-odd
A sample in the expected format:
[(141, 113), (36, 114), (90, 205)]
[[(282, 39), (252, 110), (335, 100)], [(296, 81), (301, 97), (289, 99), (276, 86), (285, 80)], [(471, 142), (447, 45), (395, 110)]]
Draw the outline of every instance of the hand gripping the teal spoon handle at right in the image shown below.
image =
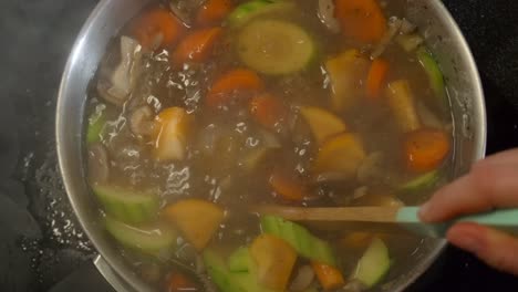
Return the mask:
[[(422, 206), (426, 222), (439, 222), (494, 208), (518, 207), (518, 149), (476, 163), (469, 174), (439, 189)], [(477, 223), (454, 225), (447, 240), (487, 264), (518, 275), (518, 238)]]

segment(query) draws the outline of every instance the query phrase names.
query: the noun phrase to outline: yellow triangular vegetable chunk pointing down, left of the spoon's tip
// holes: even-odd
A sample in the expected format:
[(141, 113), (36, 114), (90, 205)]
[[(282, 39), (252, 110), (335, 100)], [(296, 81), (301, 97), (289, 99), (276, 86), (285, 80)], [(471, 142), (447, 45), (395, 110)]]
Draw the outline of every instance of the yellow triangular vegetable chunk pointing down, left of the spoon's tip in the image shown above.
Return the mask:
[(177, 201), (165, 207), (164, 213), (198, 251), (207, 246), (225, 218), (219, 206), (201, 199)]

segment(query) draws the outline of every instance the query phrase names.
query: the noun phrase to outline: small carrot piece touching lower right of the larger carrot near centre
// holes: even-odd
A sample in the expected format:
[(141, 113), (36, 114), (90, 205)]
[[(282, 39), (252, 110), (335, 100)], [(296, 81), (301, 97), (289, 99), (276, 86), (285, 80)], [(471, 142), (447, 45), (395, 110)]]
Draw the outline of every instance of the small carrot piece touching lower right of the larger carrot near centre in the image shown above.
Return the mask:
[(288, 111), (278, 97), (262, 94), (250, 101), (250, 113), (259, 124), (272, 129), (286, 119)]

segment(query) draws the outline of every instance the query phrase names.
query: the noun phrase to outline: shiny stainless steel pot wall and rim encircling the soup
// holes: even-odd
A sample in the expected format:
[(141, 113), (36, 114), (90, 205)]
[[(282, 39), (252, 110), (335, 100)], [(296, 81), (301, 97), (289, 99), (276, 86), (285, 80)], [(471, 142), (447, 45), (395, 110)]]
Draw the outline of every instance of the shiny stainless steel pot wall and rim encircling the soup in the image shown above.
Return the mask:
[[(61, 173), (70, 201), (83, 229), (97, 249), (95, 260), (102, 274), (117, 291), (148, 288), (123, 262), (99, 222), (96, 204), (84, 171), (84, 109), (86, 88), (112, 36), (151, 0), (103, 0), (81, 30), (69, 58), (56, 108), (56, 143)], [(455, 132), (454, 176), (466, 173), (485, 154), (486, 116), (484, 95), (472, 53), (452, 15), (439, 0), (407, 0), (407, 18), (423, 32), (437, 56), (452, 100)], [(397, 277), (382, 291), (402, 291), (434, 262), (444, 241), (425, 240), (405, 259)]]

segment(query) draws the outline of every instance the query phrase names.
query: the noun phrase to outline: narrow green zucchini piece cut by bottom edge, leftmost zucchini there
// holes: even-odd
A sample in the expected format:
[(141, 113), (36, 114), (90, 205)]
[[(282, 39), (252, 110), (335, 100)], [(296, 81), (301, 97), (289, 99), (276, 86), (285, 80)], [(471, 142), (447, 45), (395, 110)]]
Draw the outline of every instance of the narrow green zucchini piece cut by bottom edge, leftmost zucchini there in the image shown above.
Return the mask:
[(207, 267), (207, 273), (221, 292), (247, 292), (239, 283), (232, 279), (225, 261), (215, 251), (204, 251), (204, 263)]

